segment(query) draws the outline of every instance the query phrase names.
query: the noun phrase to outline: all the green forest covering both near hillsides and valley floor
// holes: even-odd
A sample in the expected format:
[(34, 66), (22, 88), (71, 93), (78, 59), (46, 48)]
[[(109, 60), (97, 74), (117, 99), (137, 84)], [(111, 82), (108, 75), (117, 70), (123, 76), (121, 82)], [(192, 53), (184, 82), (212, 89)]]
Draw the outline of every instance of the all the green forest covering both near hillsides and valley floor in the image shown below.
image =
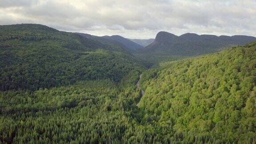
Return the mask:
[(256, 143), (256, 42), (139, 55), (40, 24), (0, 26), (0, 143)]

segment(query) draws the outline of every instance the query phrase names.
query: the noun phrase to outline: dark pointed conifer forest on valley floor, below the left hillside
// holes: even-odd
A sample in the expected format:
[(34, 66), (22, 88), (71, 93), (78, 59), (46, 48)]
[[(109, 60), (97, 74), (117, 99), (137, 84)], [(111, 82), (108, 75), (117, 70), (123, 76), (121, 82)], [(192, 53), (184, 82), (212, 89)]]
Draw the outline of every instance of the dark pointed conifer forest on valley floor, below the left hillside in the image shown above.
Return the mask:
[(132, 71), (119, 84), (94, 80), (0, 92), (0, 143), (221, 142), (174, 131), (138, 108), (138, 75)]

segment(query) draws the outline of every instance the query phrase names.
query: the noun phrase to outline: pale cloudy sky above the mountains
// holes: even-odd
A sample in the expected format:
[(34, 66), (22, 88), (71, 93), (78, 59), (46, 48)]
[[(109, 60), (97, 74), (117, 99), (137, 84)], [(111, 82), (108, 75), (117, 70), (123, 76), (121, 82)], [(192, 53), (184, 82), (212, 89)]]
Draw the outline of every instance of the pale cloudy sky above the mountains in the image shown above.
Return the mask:
[(133, 39), (160, 31), (256, 36), (256, 0), (0, 0), (0, 25), (22, 23)]

